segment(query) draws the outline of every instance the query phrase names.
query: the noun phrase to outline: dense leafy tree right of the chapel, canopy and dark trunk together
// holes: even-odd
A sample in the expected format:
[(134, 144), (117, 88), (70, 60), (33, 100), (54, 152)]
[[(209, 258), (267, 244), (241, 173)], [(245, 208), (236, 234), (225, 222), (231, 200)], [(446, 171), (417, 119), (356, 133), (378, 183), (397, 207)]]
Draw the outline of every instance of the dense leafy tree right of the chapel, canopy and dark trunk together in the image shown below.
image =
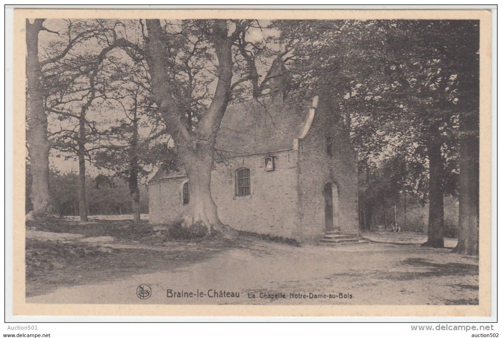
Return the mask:
[[(348, 110), (352, 140), (363, 150), (363, 158), (378, 160), (382, 154), (408, 149), (412, 152), (403, 154), (426, 161), (430, 208), (424, 245), (442, 247), (443, 195), (451, 191), (445, 182), (455, 176), (447, 171), (455, 167), (448, 162), (457, 156), (448, 157), (458, 152), (459, 74), (469, 66), (458, 41), (463, 41), (465, 29), (471, 29), (469, 23), (392, 20), (277, 25), (283, 37), (294, 43), (293, 65), (302, 74), (297, 83), (314, 90), (326, 84), (334, 88)], [(458, 30), (460, 26), (465, 29)]]

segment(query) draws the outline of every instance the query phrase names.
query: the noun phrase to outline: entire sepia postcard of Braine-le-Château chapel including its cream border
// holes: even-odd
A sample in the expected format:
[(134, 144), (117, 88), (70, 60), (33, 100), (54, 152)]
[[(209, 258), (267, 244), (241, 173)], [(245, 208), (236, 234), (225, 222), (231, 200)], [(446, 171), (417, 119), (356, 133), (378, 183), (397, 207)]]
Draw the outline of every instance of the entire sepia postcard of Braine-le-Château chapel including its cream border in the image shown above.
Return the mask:
[(14, 315), (490, 316), (490, 11), (14, 12)]

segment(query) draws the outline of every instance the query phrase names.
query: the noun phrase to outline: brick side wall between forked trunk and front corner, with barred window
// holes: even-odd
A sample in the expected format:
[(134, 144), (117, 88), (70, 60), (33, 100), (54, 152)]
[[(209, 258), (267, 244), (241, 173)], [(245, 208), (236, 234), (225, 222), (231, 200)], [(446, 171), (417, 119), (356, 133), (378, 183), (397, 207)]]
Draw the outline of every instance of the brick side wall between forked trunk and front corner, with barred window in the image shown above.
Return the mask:
[[(218, 215), (231, 227), (291, 238), (296, 227), (296, 156), (293, 151), (275, 153), (274, 171), (265, 171), (263, 156), (227, 160), (218, 164), (211, 178)], [(251, 194), (235, 196), (235, 170), (250, 170)]]

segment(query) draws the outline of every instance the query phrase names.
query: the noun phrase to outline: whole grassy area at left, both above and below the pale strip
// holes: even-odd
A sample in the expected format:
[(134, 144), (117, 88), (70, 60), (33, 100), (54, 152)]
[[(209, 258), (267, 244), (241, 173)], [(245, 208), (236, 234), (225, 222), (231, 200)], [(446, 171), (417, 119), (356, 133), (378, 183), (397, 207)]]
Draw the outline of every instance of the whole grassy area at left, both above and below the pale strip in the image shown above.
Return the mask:
[[(112, 236), (110, 244), (26, 239), (26, 295), (55, 288), (166, 271), (203, 262), (235, 248), (238, 241), (204, 237), (196, 230), (171, 227), (153, 230), (132, 220), (68, 221), (58, 218), (27, 220), (27, 230), (80, 234), (86, 238)], [(128, 247), (120, 248), (120, 245)], [(135, 248), (134, 245), (140, 245)]]

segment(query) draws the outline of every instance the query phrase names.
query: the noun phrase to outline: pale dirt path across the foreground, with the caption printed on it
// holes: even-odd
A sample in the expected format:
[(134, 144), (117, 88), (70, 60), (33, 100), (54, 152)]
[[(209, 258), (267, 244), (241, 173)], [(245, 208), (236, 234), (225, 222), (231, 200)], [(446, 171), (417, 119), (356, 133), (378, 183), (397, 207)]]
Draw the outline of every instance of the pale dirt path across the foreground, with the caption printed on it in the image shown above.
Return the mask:
[[(152, 255), (155, 251), (152, 251)], [(148, 265), (148, 261), (144, 262)], [(256, 241), (203, 263), (107, 283), (63, 287), (32, 303), (104, 304), (476, 304), (477, 260), (449, 250), (392, 244), (327, 248)], [(139, 285), (152, 296), (140, 299)], [(203, 297), (167, 297), (167, 290)], [(214, 291), (239, 297), (214, 297)], [(218, 294), (218, 292), (216, 292)], [(310, 298), (325, 294), (327, 298)], [(339, 294), (342, 293), (342, 298)], [(255, 295), (256, 298), (248, 298)], [(284, 298), (264, 298), (284, 294)], [(292, 294), (305, 295), (306, 299)], [(210, 297), (210, 296), (213, 297)], [(329, 298), (329, 295), (337, 295)], [(347, 295), (347, 298), (343, 298)], [(350, 296), (352, 298), (350, 298)]]

